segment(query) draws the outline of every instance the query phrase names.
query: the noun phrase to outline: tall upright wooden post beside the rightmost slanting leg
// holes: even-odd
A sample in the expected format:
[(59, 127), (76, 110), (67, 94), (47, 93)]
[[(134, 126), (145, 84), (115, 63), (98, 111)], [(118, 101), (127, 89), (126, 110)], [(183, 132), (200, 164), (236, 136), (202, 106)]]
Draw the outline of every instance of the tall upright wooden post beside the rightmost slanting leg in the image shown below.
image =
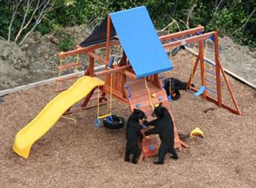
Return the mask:
[(217, 82), (217, 95), (218, 95), (218, 106), (222, 104), (222, 97), (221, 97), (221, 74), (220, 74), (220, 52), (218, 49), (218, 33), (214, 32), (214, 53), (215, 53), (215, 69), (216, 69), (216, 82)]

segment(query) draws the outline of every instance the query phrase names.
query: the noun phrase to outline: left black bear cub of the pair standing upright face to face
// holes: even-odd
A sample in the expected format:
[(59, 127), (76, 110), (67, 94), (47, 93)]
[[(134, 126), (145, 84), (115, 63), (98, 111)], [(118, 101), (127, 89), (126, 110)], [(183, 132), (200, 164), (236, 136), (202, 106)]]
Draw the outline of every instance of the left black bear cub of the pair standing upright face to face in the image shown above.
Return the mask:
[(133, 114), (127, 120), (126, 127), (126, 151), (125, 151), (125, 161), (130, 161), (130, 154), (133, 153), (133, 158), (131, 162), (137, 163), (137, 158), (141, 154), (141, 149), (138, 145), (138, 138), (142, 137), (141, 129), (142, 125), (139, 124), (139, 120), (146, 120), (147, 116), (143, 111), (134, 109)]

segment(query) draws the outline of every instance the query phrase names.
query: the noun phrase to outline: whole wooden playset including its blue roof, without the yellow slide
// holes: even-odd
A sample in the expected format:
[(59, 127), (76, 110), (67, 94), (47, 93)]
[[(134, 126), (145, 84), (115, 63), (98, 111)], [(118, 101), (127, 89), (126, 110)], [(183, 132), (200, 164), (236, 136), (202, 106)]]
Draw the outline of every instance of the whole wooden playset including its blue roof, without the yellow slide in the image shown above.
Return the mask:
[[(125, 27), (125, 24), (129, 26)], [(138, 25), (140, 24), (144, 24), (144, 28), (138, 28)], [(146, 31), (142, 31), (142, 29), (146, 29)], [(152, 32), (153, 34), (151, 34)], [(133, 35), (133, 37), (131, 35)], [(146, 37), (143, 37), (142, 35), (146, 35)], [(76, 49), (69, 52), (61, 52), (57, 56), (62, 62), (62, 60), (66, 57), (77, 56), (80, 54), (88, 55), (89, 66), (85, 70), (84, 76), (98, 77), (105, 82), (104, 85), (99, 84), (98, 86), (94, 87), (82, 99), (79, 107), (81, 110), (105, 105), (108, 103), (106, 95), (109, 95), (110, 105), (112, 104), (112, 97), (114, 97), (123, 104), (129, 105), (131, 110), (133, 110), (133, 108), (139, 108), (140, 110), (144, 111), (150, 120), (150, 118), (152, 118), (151, 113), (154, 110), (154, 107), (160, 102), (163, 103), (163, 106), (168, 108), (168, 111), (172, 116), (170, 107), (171, 103), (169, 102), (170, 100), (168, 100), (166, 91), (163, 87), (162, 79), (159, 76), (159, 73), (172, 69), (172, 63), (170, 59), (168, 59), (168, 55), (165, 51), (179, 47), (180, 45), (186, 45), (188, 43), (199, 43), (199, 56), (196, 57), (195, 64), (193, 65), (193, 71), (188, 81), (188, 89), (197, 92), (198, 89), (191, 86), (191, 81), (198, 64), (200, 64), (201, 70), (201, 86), (206, 86), (207, 88), (207, 83), (205, 80), (203, 43), (204, 40), (209, 38), (214, 41), (215, 47), (216, 65), (213, 74), (216, 76), (217, 99), (209, 97), (209, 91), (207, 89), (204, 89), (201, 97), (210, 102), (216, 103), (216, 105), (219, 107), (226, 108), (234, 114), (241, 115), (241, 111), (237, 105), (236, 99), (234, 98), (232, 90), (230, 89), (228, 78), (226, 77), (220, 62), (217, 32), (213, 31), (204, 33), (204, 27), (200, 26), (190, 30), (158, 37), (146, 7), (137, 7), (135, 9), (115, 12), (108, 15), (100, 26), (93, 31), (92, 35), (77, 46)], [(113, 63), (113, 59), (110, 60), (110, 48), (113, 45), (121, 45), (123, 49), (121, 60), (118, 63)], [(96, 53), (98, 49), (102, 48), (106, 49), (105, 57), (101, 57)], [(151, 56), (152, 53), (156, 53), (156, 56), (154, 56), (154, 54)], [(162, 59), (159, 59), (160, 56)], [(168, 59), (168, 65), (161, 64), (160, 61), (166, 61), (166, 59)], [(93, 68), (95, 61), (105, 64), (105, 70), (94, 72)], [(77, 64), (71, 63), (60, 65), (60, 68), (72, 67), (77, 67)], [(225, 82), (228, 86), (236, 109), (222, 103), (220, 81), (221, 74), (225, 78)], [(67, 77), (65, 80), (71, 80), (73, 78), (75, 77)], [(57, 82), (63, 82), (65, 80), (57, 80)], [(95, 99), (98, 99), (97, 105), (88, 105), (90, 101)], [(74, 111), (77, 111), (77, 105), (73, 107), (70, 106), (64, 114), (70, 114)], [(105, 118), (106, 116), (111, 115), (112, 112), (110, 106), (110, 113), (104, 116), (98, 115), (97, 119)], [(172, 120), (175, 122), (173, 116)], [(143, 129), (142, 132), (144, 132), (146, 129)], [(174, 132), (175, 148), (187, 147), (187, 144), (179, 139), (175, 123)], [(141, 143), (143, 156), (147, 158), (158, 154), (159, 145), (160, 140), (158, 135), (151, 135), (148, 139), (143, 139)]]

